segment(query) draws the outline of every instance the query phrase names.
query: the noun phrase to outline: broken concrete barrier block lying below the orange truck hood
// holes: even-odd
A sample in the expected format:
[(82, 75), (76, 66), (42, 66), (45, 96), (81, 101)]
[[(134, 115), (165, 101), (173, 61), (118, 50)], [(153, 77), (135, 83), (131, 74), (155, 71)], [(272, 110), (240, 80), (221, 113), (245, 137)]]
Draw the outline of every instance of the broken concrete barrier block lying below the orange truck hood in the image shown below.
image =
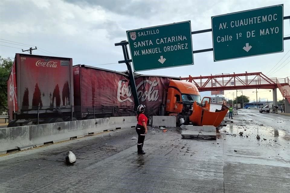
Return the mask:
[(202, 139), (216, 139), (217, 131), (214, 126), (193, 126), (193, 125), (182, 125), (184, 126), (181, 132), (181, 136), (187, 139), (191, 138), (202, 138)]

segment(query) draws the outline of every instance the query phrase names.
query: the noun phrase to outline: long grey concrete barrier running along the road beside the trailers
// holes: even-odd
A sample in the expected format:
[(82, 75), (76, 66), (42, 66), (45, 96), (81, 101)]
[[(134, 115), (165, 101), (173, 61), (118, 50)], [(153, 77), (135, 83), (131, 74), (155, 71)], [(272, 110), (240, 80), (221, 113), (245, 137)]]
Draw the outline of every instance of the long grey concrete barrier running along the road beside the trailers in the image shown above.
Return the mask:
[(41, 125), (0, 128), (0, 155), (8, 150), (26, 150), (118, 128), (136, 126), (135, 116), (88, 119)]

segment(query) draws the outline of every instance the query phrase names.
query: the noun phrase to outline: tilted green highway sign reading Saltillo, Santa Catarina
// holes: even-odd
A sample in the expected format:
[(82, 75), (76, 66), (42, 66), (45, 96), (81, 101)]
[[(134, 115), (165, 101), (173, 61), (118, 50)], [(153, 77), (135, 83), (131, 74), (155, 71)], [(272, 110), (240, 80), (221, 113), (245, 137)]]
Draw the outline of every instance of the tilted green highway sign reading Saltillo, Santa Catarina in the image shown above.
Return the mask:
[(134, 71), (193, 65), (191, 23), (127, 31)]

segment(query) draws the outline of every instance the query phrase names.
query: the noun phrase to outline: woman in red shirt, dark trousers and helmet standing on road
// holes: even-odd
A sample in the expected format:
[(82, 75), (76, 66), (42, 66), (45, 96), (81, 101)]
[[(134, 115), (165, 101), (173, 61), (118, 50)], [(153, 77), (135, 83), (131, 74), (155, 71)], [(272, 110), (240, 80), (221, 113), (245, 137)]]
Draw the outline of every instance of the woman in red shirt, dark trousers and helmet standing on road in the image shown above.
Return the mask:
[(145, 151), (143, 150), (143, 144), (144, 139), (147, 134), (147, 121), (148, 118), (144, 115), (145, 112), (145, 105), (139, 105), (137, 107), (137, 125), (136, 125), (136, 131), (138, 134), (138, 142), (137, 142), (137, 149), (138, 154), (145, 154)]

